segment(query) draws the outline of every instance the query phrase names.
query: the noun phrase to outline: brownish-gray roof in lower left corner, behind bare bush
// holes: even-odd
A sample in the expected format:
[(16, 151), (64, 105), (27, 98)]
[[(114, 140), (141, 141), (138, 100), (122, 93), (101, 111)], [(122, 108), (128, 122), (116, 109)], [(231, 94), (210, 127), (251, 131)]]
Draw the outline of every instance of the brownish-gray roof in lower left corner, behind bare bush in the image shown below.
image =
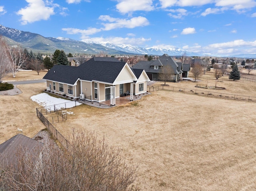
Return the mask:
[(33, 152), (38, 152), (39, 154), (41, 152), (42, 147), (42, 143), (34, 139), (31, 139), (27, 136), (24, 136), (22, 134), (17, 134), (16, 136), (10, 138), (6, 142), (0, 144), (0, 161), (7, 160), (8, 162), (16, 163), (16, 152), (18, 152), (19, 149), (22, 148), (22, 150), (27, 150), (29, 152), (31, 152), (34, 149)]

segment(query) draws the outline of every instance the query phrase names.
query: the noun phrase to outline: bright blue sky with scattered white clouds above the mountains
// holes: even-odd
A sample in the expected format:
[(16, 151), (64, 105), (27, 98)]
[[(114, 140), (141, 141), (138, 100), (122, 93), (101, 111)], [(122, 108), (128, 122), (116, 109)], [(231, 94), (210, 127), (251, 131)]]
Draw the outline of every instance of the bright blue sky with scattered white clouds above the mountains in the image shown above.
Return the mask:
[(1, 0), (0, 24), (44, 37), (256, 53), (256, 0)]

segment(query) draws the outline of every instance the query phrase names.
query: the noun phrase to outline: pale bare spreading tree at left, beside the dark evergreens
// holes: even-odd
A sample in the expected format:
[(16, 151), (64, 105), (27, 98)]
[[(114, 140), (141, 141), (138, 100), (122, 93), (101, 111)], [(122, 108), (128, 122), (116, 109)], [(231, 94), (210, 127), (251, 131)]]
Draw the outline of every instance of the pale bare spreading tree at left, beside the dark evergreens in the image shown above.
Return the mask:
[(8, 59), (8, 69), (12, 73), (12, 77), (16, 77), (16, 73), (22, 68), (26, 62), (24, 51), (21, 47), (8, 47), (6, 50), (6, 58)]

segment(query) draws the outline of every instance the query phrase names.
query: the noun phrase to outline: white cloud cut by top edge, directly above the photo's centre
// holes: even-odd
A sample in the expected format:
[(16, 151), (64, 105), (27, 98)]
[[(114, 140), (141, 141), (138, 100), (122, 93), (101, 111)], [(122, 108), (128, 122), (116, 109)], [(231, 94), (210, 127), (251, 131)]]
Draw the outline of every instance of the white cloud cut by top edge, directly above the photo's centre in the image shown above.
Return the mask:
[(134, 11), (152, 11), (152, 0), (118, 0), (116, 9), (122, 13), (130, 13)]

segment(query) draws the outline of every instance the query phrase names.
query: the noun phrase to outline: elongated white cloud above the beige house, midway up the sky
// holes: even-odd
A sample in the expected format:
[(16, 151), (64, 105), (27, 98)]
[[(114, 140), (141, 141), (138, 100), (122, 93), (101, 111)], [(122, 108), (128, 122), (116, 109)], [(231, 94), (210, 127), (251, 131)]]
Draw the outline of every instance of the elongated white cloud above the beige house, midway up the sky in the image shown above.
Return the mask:
[(149, 21), (142, 16), (127, 19), (112, 18), (108, 15), (102, 15), (99, 17), (102, 21), (108, 21), (111, 23), (102, 23), (104, 28), (102, 30), (113, 30), (115, 28), (135, 28), (149, 25)]

